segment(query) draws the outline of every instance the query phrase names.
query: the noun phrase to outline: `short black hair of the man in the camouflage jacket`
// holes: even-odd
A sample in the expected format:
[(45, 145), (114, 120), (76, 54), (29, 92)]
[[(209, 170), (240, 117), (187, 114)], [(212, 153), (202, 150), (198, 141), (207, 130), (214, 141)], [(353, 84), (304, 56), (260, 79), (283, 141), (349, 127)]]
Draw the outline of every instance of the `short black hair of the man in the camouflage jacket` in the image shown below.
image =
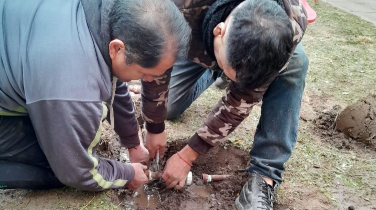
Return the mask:
[(270, 82), (294, 48), (290, 19), (271, 0), (246, 0), (237, 6), (230, 14), (226, 35), (226, 59), (242, 89)]

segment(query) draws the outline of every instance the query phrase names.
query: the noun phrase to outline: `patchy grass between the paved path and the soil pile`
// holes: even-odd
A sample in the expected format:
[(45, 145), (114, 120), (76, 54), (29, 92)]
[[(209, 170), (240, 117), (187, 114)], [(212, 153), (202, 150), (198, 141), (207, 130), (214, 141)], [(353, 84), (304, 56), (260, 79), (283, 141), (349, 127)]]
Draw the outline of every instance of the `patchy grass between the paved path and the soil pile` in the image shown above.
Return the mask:
[(306, 90), (346, 103), (376, 86), (376, 28), (367, 21), (319, 1), (308, 1), (318, 17), (303, 38), (310, 60)]

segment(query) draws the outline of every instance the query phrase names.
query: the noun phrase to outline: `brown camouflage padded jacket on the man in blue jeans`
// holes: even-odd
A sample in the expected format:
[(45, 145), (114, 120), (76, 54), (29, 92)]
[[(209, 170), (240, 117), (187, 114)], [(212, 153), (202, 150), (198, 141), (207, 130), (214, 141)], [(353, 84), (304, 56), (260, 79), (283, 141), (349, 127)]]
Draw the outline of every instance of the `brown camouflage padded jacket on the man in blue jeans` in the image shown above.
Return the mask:
[[(217, 61), (213, 60), (205, 49), (201, 32), (202, 22), (208, 11), (208, 6), (215, 0), (173, 1), (192, 28), (192, 43), (188, 58), (206, 68), (218, 70)], [(294, 28), (294, 43), (298, 44), (307, 26), (306, 11), (300, 0), (283, 0), (283, 3)], [(288, 62), (279, 72), (283, 71), (287, 64)], [(142, 81), (142, 113), (147, 122), (146, 128), (148, 128), (148, 124), (149, 128), (151, 128), (150, 124), (152, 124), (152, 129), (158, 131), (164, 128), (163, 121), (166, 116), (170, 72), (171, 69), (162, 76), (155, 78), (152, 82)], [(261, 101), (269, 84), (278, 74), (273, 75), (268, 84), (249, 91), (240, 91), (236, 83), (231, 82), (225, 95), (219, 100), (195, 135), (189, 139), (190, 146), (200, 154), (205, 154), (211, 147), (225, 140), (249, 115), (252, 107)], [(144, 87), (147, 87), (147, 89)]]

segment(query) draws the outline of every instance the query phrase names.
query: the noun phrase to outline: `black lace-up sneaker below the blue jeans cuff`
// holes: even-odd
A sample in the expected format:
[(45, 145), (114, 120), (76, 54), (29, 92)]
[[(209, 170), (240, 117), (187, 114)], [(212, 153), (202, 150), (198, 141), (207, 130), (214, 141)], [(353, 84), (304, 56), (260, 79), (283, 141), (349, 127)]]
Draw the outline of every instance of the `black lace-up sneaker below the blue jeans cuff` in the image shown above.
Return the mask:
[(275, 186), (271, 186), (259, 173), (251, 173), (251, 178), (244, 184), (240, 195), (235, 200), (238, 210), (267, 209), (273, 210)]

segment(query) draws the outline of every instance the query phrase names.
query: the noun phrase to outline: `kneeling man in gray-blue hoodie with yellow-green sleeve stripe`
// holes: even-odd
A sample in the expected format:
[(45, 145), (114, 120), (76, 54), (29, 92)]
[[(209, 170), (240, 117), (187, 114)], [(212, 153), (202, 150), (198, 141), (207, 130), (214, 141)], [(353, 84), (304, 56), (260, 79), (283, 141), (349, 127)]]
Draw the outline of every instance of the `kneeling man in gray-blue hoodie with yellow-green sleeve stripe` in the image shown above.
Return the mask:
[(107, 118), (131, 161), (148, 159), (125, 81), (153, 82), (185, 56), (191, 29), (175, 4), (3, 0), (0, 25), (0, 189), (147, 182), (146, 166), (96, 146)]

